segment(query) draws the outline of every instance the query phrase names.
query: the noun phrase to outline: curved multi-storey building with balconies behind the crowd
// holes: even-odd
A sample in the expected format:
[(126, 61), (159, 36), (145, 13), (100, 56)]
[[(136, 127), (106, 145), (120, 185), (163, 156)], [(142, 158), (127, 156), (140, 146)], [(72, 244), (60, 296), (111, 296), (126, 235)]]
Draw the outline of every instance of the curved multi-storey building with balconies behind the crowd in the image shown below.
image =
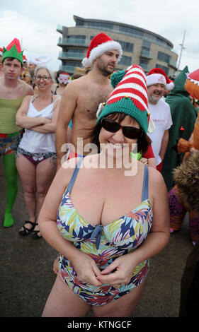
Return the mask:
[(75, 67), (81, 67), (92, 38), (100, 32), (120, 42), (123, 48), (123, 57), (116, 67), (118, 70), (132, 64), (139, 64), (146, 73), (159, 67), (168, 76), (173, 76), (177, 70), (178, 54), (173, 50), (174, 45), (154, 32), (109, 20), (74, 16), (74, 21), (74, 27), (57, 26), (57, 31), (62, 34), (57, 42), (62, 47), (58, 56), (62, 61), (59, 69), (69, 74), (74, 73)]

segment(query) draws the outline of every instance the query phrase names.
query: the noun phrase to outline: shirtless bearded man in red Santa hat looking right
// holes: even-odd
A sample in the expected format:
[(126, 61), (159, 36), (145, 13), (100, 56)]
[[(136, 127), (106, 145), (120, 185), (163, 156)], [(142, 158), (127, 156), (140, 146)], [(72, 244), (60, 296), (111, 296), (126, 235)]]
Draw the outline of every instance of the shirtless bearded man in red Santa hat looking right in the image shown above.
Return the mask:
[(93, 66), (92, 70), (86, 76), (70, 82), (62, 95), (56, 130), (57, 169), (61, 166), (62, 157), (66, 154), (66, 151), (62, 152), (61, 148), (64, 143), (67, 143), (67, 128), (71, 119), (70, 143), (74, 146), (75, 152), (83, 153), (82, 149), (78, 150), (78, 138), (83, 138), (83, 148), (86, 143), (89, 143), (89, 138), (84, 137), (88, 136), (96, 123), (98, 105), (106, 102), (113, 91), (108, 76), (113, 73), (122, 54), (120, 44), (104, 33), (96, 35), (91, 40), (82, 64), (85, 67)]

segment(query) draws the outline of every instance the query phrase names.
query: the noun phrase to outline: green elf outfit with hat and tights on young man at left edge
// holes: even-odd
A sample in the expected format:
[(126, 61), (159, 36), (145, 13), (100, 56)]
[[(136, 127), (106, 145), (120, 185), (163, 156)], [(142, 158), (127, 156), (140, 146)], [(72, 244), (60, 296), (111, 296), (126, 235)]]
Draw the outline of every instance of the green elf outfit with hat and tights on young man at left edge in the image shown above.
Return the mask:
[[(2, 54), (2, 62), (6, 58), (21, 61), (23, 66), (23, 51), (19, 41), (15, 38)], [(25, 85), (24, 85), (25, 86)], [(0, 98), (0, 155), (3, 156), (6, 171), (6, 211), (4, 214), (4, 227), (13, 225), (12, 208), (18, 192), (17, 170), (14, 153), (21, 138), (21, 128), (16, 126), (16, 112), (20, 107), (23, 95), (16, 100)]]

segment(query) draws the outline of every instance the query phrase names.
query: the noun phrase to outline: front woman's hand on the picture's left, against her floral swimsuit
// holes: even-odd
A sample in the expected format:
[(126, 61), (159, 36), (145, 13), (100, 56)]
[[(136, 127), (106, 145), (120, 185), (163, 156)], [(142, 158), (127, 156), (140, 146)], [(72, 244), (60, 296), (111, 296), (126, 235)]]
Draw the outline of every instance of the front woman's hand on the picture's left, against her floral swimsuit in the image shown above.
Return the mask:
[(96, 262), (87, 254), (80, 253), (72, 259), (77, 278), (83, 283), (93, 286), (101, 286), (102, 283), (96, 277), (101, 275), (101, 271)]

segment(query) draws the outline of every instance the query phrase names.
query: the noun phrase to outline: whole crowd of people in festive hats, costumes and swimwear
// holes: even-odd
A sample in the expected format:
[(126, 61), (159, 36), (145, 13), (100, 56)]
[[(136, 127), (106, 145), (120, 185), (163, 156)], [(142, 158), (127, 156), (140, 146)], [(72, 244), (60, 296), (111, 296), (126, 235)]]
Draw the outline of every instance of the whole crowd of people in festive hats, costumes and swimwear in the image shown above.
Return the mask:
[[(94, 316), (130, 316), (150, 257), (181, 229), (187, 211), (198, 252), (198, 211), (181, 194), (184, 169), (192, 172), (191, 198), (198, 194), (198, 150), (191, 146), (184, 161), (174, 149), (179, 138), (193, 140), (198, 114), (186, 90), (188, 68), (175, 79), (136, 64), (116, 71), (123, 49), (104, 33), (72, 77), (52, 72), (47, 55), (28, 61), (16, 38), (0, 54), (4, 227), (14, 224), (19, 176), (28, 220), (18, 233), (43, 237), (58, 255), (42, 316), (86, 316), (91, 307)], [(186, 310), (198, 271), (193, 256), (181, 316), (193, 313)]]

